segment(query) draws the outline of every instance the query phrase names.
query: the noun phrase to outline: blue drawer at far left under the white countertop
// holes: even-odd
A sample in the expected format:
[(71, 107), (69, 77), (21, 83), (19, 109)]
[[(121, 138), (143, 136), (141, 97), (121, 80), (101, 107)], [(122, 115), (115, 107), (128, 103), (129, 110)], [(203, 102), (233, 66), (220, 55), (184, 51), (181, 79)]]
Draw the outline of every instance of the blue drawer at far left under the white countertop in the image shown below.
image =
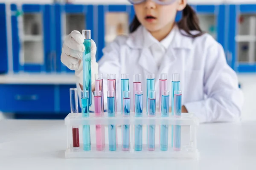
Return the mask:
[(0, 85), (0, 111), (54, 112), (53, 85)]

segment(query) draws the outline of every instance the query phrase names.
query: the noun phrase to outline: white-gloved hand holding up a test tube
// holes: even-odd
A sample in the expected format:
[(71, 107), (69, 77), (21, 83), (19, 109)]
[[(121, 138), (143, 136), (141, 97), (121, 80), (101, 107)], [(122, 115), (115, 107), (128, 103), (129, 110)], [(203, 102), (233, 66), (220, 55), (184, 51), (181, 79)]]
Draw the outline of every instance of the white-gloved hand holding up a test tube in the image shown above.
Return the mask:
[[(75, 71), (77, 81), (83, 85), (83, 52), (84, 52), (84, 37), (79, 31), (72, 31), (64, 40), (61, 62), (70, 70)], [(95, 74), (98, 74), (98, 63), (96, 62), (97, 47), (93, 40), (91, 40), (91, 74), (92, 87), (95, 82)]]

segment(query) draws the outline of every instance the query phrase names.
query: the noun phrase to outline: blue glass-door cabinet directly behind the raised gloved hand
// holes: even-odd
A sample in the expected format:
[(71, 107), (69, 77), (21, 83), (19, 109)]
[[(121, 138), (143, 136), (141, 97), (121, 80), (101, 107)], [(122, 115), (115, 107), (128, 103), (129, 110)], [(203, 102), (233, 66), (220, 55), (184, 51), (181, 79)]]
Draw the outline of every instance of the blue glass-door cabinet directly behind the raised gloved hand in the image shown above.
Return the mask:
[(73, 30), (80, 33), (83, 29), (91, 30), (91, 38), (94, 39), (96, 27), (93, 22), (92, 5), (55, 4), (55, 40), (58, 72), (74, 72), (61, 63), (61, 48), (65, 37)]

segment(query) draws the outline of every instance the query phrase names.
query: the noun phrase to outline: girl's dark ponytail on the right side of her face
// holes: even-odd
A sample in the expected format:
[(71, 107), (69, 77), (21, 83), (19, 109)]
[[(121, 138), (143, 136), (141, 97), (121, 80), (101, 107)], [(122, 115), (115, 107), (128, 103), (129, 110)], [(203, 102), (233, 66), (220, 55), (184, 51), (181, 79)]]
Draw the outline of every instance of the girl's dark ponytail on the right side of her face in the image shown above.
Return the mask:
[[(186, 7), (183, 9), (182, 13), (182, 18), (181, 20), (177, 23), (179, 29), (182, 29), (186, 32), (186, 36), (188, 37), (199, 37), (204, 34), (204, 32), (201, 30), (199, 26), (199, 19), (195, 13), (195, 11), (192, 9), (191, 6), (188, 4)], [(198, 34), (191, 34), (190, 31), (199, 31)]]

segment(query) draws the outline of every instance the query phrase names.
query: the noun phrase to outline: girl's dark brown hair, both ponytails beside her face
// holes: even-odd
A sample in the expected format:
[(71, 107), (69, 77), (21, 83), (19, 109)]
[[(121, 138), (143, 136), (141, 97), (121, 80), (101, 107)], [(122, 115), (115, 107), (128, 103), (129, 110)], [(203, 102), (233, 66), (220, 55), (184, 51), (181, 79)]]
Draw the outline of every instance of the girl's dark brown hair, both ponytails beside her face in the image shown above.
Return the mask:
[[(132, 21), (132, 23), (129, 26), (130, 33), (134, 32), (140, 25), (141, 25), (141, 23), (135, 15), (134, 20)], [(177, 26), (179, 27), (180, 30), (184, 30), (187, 35), (185, 35), (185, 34), (183, 34), (183, 35), (188, 36), (188, 37), (195, 38), (195, 37), (199, 37), (202, 34), (204, 34), (204, 32), (201, 30), (201, 28), (199, 26), (199, 19), (196, 15), (195, 11), (188, 4), (183, 9), (182, 18), (177, 23)], [(190, 31), (199, 31), (199, 33), (194, 35), (194, 34), (191, 34)]]

